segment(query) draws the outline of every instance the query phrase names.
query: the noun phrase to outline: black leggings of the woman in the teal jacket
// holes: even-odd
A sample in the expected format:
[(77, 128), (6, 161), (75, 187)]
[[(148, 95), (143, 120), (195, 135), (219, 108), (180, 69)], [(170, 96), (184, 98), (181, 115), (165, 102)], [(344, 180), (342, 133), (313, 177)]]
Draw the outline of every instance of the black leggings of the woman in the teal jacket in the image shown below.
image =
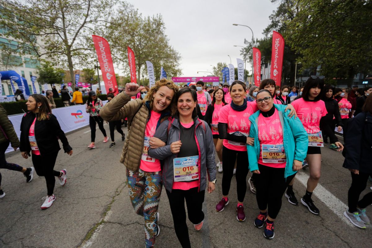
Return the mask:
[(288, 184), (296, 174), (284, 177), (285, 168), (258, 165), (260, 174), (256, 181), (256, 199), (260, 210), (267, 209), (270, 218), (275, 219), (282, 207), (282, 197)]

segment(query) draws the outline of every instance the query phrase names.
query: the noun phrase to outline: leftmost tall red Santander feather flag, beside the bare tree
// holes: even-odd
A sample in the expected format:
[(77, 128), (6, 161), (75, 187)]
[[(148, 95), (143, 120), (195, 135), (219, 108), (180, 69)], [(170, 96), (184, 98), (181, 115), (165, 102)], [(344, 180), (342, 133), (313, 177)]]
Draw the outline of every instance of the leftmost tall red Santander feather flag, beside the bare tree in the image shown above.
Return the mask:
[(109, 88), (113, 88), (113, 93), (116, 96), (116, 94), (118, 94), (118, 84), (116, 83), (110, 45), (106, 39), (101, 36), (92, 35), (92, 38), (101, 67), (102, 79), (103, 82), (105, 82), (106, 92), (109, 92)]

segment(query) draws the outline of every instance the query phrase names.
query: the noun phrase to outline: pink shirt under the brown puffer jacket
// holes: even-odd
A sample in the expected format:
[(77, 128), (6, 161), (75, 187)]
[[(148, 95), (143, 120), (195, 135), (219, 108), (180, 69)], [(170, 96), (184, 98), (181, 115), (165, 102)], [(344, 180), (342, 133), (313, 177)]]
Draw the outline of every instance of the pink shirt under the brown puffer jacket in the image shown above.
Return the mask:
[(140, 169), (147, 172), (154, 172), (154, 171), (161, 171), (160, 168), (160, 160), (156, 158), (151, 158), (148, 155), (148, 148), (150, 145), (148, 144), (151, 137), (154, 136), (156, 131), (156, 125), (160, 119), (161, 113), (157, 113), (154, 110), (151, 110), (151, 117), (148, 120), (146, 129), (145, 129), (145, 138), (143, 143), (143, 150), (141, 156), (141, 163)]

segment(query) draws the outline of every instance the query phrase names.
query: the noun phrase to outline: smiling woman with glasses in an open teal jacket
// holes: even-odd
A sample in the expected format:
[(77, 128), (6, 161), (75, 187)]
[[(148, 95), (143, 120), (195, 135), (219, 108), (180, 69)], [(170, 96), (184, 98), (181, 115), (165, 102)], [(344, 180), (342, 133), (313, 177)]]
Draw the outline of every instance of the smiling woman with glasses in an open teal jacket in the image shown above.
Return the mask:
[(249, 137), (254, 142), (247, 145), (249, 169), (258, 174), (256, 199), (260, 213), (254, 225), (262, 228), (266, 221), (264, 237), (272, 239), (284, 191), (306, 157), (308, 136), (299, 119), (284, 113), (285, 105), (273, 103), (270, 91), (260, 90), (256, 102), (259, 110), (249, 117)]

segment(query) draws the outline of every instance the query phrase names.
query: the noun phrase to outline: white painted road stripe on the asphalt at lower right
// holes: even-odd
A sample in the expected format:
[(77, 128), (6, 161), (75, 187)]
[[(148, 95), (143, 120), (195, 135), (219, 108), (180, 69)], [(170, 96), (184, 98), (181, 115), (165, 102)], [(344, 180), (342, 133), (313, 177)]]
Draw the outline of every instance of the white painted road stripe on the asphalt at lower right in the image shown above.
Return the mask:
[[(305, 187), (307, 187), (307, 180), (309, 176), (304, 172), (298, 172), (296, 177)], [(319, 200), (321, 200), (329, 209), (331, 209), (337, 216), (341, 218), (347, 225), (354, 226), (348, 219), (345, 218), (344, 212), (349, 207), (338, 199), (334, 194), (325, 189), (321, 184), (318, 184), (317, 188), (312, 193)]]

